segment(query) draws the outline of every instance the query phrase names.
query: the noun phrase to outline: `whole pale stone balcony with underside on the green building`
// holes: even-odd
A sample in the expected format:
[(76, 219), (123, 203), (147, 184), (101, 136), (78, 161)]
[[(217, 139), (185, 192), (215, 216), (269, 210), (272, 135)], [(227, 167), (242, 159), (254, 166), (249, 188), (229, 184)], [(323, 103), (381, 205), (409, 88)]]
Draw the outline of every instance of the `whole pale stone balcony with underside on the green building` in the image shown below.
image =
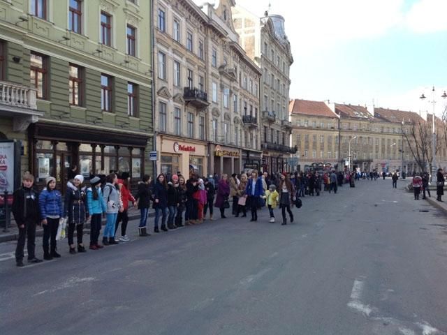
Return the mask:
[(36, 94), (36, 89), (0, 81), (0, 116), (13, 118), (13, 131), (26, 131), (43, 115), (37, 110)]

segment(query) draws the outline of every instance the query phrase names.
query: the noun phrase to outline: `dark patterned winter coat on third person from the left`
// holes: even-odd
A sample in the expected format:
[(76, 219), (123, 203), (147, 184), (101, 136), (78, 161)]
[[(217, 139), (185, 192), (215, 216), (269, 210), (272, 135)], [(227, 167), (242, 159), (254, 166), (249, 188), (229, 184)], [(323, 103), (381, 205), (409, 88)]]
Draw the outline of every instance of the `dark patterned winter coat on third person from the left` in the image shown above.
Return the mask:
[(65, 216), (68, 216), (68, 223), (82, 225), (89, 217), (89, 208), (87, 205), (87, 192), (85, 187), (78, 188), (67, 183), (67, 191), (65, 193)]

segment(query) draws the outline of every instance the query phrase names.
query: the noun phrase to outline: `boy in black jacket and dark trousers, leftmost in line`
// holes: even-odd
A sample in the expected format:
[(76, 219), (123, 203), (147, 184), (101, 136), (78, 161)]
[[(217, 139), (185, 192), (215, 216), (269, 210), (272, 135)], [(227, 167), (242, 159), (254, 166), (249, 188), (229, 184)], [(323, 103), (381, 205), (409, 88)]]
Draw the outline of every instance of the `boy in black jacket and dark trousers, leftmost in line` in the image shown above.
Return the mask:
[(25, 240), (28, 237), (28, 262), (40, 263), (42, 260), (36, 258), (36, 225), (39, 224), (38, 192), (33, 188), (34, 176), (25, 172), (22, 178), (22, 187), (13, 193), (13, 205), (11, 210), (17, 226), (19, 237), (15, 248), (15, 264), (23, 267)]

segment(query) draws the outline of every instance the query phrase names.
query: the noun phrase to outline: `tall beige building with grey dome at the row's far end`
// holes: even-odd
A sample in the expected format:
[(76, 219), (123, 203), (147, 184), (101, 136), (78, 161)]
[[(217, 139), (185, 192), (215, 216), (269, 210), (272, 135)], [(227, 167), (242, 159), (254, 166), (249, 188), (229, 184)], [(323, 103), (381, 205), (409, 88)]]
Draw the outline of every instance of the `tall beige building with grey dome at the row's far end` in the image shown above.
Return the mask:
[(288, 114), (291, 46), (284, 30), (284, 17), (257, 17), (240, 6), (233, 8), (233, 22), (240, 44), (261, 68), (261, 145), (262, 168), (268, 172), (291, 170), (292, 125)]

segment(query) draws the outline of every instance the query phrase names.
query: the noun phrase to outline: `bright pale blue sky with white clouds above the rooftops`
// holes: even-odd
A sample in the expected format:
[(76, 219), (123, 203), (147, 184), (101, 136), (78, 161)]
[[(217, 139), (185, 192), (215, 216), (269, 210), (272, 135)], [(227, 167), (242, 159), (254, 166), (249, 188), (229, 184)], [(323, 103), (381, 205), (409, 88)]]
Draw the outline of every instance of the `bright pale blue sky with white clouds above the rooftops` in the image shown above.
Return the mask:
[[(447, 98), (447, 0), (236, 0), (282, 15), (290, 97), (441, 116)], [(434, 94), (432, 92), (434, 87)], [(420, 95), (425, 94), (425, 101)]]

